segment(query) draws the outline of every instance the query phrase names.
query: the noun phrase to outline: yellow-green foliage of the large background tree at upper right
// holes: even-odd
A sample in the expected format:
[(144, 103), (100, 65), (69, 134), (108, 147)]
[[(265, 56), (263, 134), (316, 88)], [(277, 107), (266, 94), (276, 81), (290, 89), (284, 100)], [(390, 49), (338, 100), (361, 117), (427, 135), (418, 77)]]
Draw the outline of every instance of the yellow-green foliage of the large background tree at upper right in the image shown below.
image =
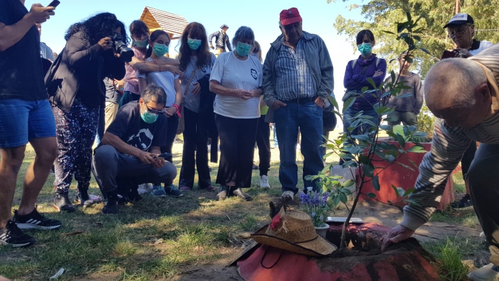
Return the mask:
[[(335, 2), (335, 0), (327, 0)], [(346, 2), (347, 0), (342, 0)], [(413, 17), (422, 16), (418, 22), (423, 28), (421, 41), (418, 47), (427, 49), (430, 54), (420, 52), (414, 61), (414, 66), (420, 70), (425, 77), (428, 69), (437, 62), (445, 49), (453, 48), (452, 40), (447, 37), (447, 32), (442, 27), (449, 21), (456, 11), (455, 0), (363, 0), (363, 4), (352, 4), (350, 9), (360, 9), (364, 20), (355, 21), (347, 19), (347, 15), (338, 15), (334, 27), (338, 34), (345, 33), (352, 38), (355, 44), (355, 36), (362, 29), (370, 29), (376, 38), (375, 52), (379, 57), (390, 59), (407, 48), (407, 45), (396, 40), (383, 32), (388, 30), (397, 33), (393, 22), (405, 20), (405, 11), (410, 12)], [(499, 27), (499, 0), (461, 0), (460, 12), (471, 14), (475, 20), (475, 29), (494, 29)], [(475, 36), (478, 40), (488, 40), (493, 43), (499, 41), (499, 31), (478, 31)], [(422, 44), (422, 45), (421, 45)], [(398, 69), (395, 63), (388, 66), (388, 71)]]

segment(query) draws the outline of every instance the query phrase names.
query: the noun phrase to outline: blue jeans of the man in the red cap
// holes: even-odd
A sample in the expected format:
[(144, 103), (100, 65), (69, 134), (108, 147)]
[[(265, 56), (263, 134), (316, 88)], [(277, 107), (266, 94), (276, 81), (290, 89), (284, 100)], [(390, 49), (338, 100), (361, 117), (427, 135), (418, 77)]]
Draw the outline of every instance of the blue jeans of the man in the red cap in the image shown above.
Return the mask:
[(303, 154), (304, 187), (316, 187), (305, 180), (307, 175), (317, 175), (324, 168), (322, 162), (322, 108), (313, 101), (297, 103), (284, 101), (285, 107), (275, 110), (274, 121), (279, 140), (279, 181), (282, 191), (298, 192), (298, 166), (296, 165), (296, 144), (298, 128), (301, 132), (301, 153)]

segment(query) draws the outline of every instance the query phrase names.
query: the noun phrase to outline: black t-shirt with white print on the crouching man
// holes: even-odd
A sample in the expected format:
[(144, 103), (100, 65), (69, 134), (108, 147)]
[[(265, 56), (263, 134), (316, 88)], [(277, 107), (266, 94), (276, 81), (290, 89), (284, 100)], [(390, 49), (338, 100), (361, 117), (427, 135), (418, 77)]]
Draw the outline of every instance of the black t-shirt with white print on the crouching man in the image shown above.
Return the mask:
[(165, 115), (160, 115), (154, 123), (144, 122), (140, 117), (139, 102), (132, 101), (118, 110), (107, 132), (118, 136), (131, 146), (149, 151), (151, 146), (166, 145), (167, 121)]

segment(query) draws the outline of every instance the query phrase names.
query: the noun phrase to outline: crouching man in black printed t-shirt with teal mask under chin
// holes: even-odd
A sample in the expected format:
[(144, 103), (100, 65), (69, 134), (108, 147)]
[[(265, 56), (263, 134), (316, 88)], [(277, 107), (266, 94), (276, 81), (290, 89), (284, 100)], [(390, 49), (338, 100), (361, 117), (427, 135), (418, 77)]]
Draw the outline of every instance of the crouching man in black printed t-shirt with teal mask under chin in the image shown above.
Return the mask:
[(166, 145), (165, 103), (165, 91), (149, 85), (139, 101), (120, 108), (95, 149), (92, 172), (106, 199), (102, 213), (117, 214), (118, 197), (120, 201), (142, 199), (139, 184), (171, 182), (176, 177), (175, 166), (158, 157), (160, 147)]

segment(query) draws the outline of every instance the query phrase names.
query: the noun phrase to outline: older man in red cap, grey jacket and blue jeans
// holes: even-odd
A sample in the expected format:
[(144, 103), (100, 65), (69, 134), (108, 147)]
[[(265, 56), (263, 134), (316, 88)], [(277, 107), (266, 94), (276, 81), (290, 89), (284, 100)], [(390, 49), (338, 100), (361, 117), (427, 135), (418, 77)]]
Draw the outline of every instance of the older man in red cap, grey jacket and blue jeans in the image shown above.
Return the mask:
[[(282, 10), (279, 28), (282, 32), (271, 43), (263, 63), (263, 100), (270, 107), (266, 122), (275, 124), (279, 139), (279, 181), (282, 196), (297, 192), (298, 167), (296, 145), (301, 132), (303, 182), (324, 168), (322, 162), (322, 111), (333, 92), (333, 65), (324, 41), (305, 32), (297, 8)], [(306, 189), (305, 189), (306, 191)]]

